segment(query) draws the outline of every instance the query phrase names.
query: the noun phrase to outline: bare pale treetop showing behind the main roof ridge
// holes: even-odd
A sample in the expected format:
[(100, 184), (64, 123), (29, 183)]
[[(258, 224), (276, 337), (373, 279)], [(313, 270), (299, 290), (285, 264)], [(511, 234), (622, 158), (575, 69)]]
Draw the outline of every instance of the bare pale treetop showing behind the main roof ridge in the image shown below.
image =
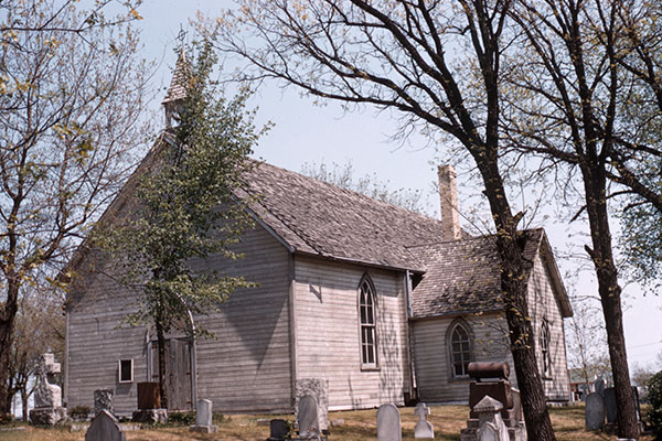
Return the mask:
[(306, 163), (301, 168), (301, 173), (337, 185), (341, 189), (351, 190), (377, 201), (397, 205), (410, 212), (426, 214), (426, 207), (421, 202), (423, 194), (419, 190), (391, 190), (388, 187), (388, 181), (380, 181), (380, 178), (376, 174), (366, 174), (356, 179), (354, 165), (351, 161), (346, 162), (344, 165), (333, 163), (331, 168), (327, 166), (323, 162), (320, 162), (319, 164)]

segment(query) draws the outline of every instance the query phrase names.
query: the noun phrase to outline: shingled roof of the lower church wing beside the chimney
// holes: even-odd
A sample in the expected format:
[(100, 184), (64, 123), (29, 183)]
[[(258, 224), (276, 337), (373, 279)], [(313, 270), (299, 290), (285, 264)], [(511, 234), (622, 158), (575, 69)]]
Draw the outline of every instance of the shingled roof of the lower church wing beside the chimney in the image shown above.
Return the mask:
[[(572, 309), (554, 263), (545, 232), (525, 232), (525, 276), (530, 277), (541, 250), (549, 257), (551, 273), (564, 316)], [(423, 260), (426, 272), (412, 295), (415, 319), (503, 310), (500, 257), (494, 236), (483, 236), (409, 247)]]

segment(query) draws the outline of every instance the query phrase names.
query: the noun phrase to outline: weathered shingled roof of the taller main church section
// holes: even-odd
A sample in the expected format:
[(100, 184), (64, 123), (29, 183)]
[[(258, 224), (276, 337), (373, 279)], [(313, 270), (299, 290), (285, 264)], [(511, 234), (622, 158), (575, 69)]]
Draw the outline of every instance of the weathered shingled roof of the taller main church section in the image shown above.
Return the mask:
[(407, 246), (438, 241), (441, 222), (260, 162), (249, 207), (296, 252), (424, 271)]

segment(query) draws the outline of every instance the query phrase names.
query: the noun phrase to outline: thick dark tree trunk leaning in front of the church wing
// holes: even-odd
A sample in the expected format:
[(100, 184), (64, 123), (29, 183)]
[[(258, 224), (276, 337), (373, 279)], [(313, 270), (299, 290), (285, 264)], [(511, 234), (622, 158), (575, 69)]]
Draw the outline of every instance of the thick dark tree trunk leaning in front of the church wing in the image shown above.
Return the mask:
[[(496, 151), (495, 148), (492, 151)], [(474, 157), (476, 158), (476, 157)], [(543, 381), (535, 356), (534, 330), (527, 303), (528, 278), (524, 273), (524, 233), (517, 233), (519, 219), (512, 215), (505, 197), (496, 158), (476, 158), (483, 176), (485, 195), (496, 227), (496, 248), (501, 258), (501, 291), (510, 331), (511, 352), (520, 387), (522, 409), (530, 440), (556, 440)]]

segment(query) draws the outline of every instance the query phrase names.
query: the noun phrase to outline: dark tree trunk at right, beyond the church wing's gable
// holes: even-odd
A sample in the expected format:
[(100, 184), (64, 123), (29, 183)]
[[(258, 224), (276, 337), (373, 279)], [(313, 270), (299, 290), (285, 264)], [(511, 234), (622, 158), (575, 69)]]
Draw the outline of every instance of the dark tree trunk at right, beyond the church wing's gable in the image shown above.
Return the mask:
[(621, 288), (618, 284), (618, 272), (611, 249), (611, 233), (605, 197), (607, 194), (606, 179), (599, 166), (584, 165), (581, 172), (592, 243), (592, 249), (586, 247), (586, 250), (596, 267), (598, 292), (605, 315), (609, 359), (618, 406), (618, 435), (619, 438), (637, 439), (640, 434), (639, 423), (626, 353)]

